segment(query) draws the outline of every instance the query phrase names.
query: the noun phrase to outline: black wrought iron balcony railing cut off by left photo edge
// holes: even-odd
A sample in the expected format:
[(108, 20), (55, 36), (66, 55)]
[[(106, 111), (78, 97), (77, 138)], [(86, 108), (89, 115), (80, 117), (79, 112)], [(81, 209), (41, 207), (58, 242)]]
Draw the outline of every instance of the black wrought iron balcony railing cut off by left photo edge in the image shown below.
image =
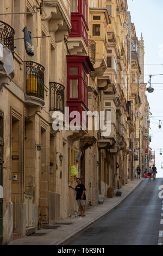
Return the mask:
[(0, 21), (0, 41), (12, 52), (14, 56), (14, 35), (15, 31), (9, 24)]

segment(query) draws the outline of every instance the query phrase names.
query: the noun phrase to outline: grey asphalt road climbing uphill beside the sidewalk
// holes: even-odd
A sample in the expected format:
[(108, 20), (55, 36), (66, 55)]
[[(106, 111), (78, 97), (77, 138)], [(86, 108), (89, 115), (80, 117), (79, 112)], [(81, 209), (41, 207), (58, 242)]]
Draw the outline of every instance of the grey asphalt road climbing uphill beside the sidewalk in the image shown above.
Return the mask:
[(65, 245), (158, 245), (163, 179), (142, 181), (108, 214), (74, 236)]

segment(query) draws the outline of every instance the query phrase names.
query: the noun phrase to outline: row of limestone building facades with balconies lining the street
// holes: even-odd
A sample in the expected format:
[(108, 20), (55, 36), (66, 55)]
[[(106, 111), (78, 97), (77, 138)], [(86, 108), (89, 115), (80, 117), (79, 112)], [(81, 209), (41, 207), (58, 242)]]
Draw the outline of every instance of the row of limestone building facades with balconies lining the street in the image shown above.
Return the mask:
[[(24, 47), (24, 27), (31, 32), (34, 56)], [(149, 104), (143, 38), (136, 37), (126, 0), (1, 0), (0, 43), (15, 65), (7, 74), (0, 62), (4, 245), (77, 212), (69, 187), (77, 176), (91, 207), (99, 195), (107, 197), (108, 188), (133, 179), (138, 163), (145, 170)], [(80, 114), (78, 129), (68, 130), (73, 111)], [(109, 135), (96, 129), (100, 112), (104, 124), (110, 114)], [(54, 116), (63, 129), (54, 129)]]

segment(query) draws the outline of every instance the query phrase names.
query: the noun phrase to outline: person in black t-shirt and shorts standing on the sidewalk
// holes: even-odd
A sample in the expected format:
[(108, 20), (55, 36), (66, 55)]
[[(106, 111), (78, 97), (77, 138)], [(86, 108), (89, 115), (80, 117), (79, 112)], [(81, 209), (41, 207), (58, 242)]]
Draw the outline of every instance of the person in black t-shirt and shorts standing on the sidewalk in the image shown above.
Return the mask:
[(77, 181), (77, 186), (76, 188), (70, 186), (70, 188), (72, 188), (74, 191), (77, 192), (77, 196), (76, 196), (76, 200), (78, 201), (78, 206), (79, 206), (79, 210), (80, 210), (80, 215), (82, 217), (85, 217), (85, 205), (86, 205), (86, 195), (85, 195), (85, 191), (86, 188), (84, 186), (84, 184), (82, 184), (82, 181), (80, 178), (76, 179)]

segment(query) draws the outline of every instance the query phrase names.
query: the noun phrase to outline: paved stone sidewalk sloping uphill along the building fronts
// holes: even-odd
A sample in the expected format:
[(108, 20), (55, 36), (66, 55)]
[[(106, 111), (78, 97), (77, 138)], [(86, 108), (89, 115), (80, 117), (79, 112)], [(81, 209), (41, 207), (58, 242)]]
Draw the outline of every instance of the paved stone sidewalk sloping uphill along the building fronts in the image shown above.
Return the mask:
[(82, 231), (120, 204), (141, 181), (142, 179), (134, 179), (126, 186), (123, 186), (121, 188), (122, 197), (107, 198), (104, 200), (104, 204), (87, 208), (85, 211), (86, 217), (70, 217), (60, 220), (55, 225), (51, 225), (51, 227), (37, 230), (33, 235), (11, 241), (9, 245), (62, 245), (79, 231)]

